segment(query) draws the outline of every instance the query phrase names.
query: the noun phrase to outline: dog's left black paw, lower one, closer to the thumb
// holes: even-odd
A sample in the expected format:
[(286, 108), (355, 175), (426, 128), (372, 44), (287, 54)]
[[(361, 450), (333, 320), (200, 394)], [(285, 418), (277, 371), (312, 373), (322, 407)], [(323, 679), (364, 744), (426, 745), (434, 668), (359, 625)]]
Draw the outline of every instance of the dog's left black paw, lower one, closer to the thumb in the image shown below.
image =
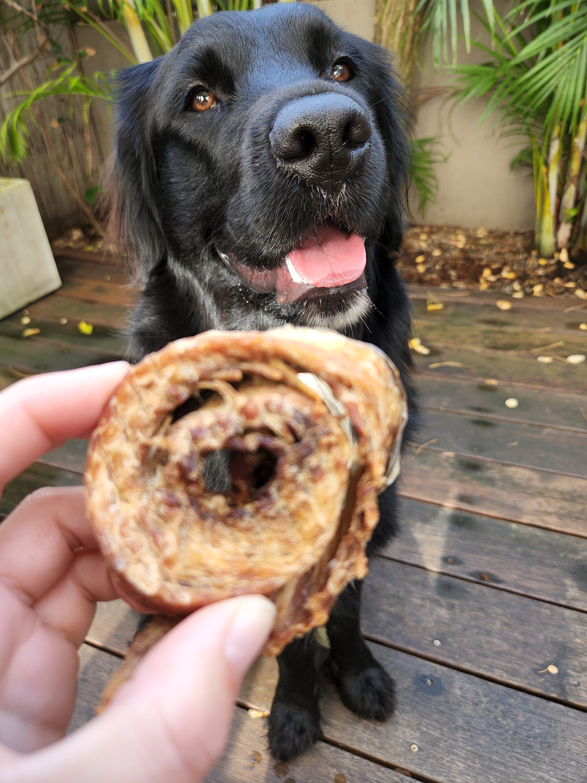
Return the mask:
[(269, 715), (268, 740), (272, 755), (290, 761), (322, 739), (320, 713), (309, 713), (294, 705), (273, 703)]

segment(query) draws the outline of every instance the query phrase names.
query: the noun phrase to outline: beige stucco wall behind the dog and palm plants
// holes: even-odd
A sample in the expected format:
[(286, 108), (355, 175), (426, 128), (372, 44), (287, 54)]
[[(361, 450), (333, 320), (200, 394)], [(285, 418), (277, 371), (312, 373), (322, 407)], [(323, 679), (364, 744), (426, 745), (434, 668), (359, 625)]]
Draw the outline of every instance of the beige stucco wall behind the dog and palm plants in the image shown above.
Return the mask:
[[(506, 2), (495, 0), (495, 5), (504, 9)], [(315, 0), (315, 5), (348, 30), (372, 38), (375, 0)], [(111, 23), (111, 27), (119, 37), (127, 38), (121, 24)], [(474, 18), (471, 27), (474, 38), (483, 38), (484, 31)], [(92, 74), (95, 70), (107, 72), (128, 64), (124, 56), (91, 27), (78, 25), (76, 35), (81, 47), (89, 46), (96, 50), (95, 56), (85, 60), (87, 73)], [(481, 62), (483, 55), (475, 49), (467, 55), (462, 45), (459, 60)], [(448, 81), (447, 74), (434, 73), (430, 51), (426, 53), (425, 61), (427, 67), (416, 72), (415, 90), (436, 87)], [(512, 140), (499, 138), (499, 129), (492, 128), (492, 121), (479, 126), (484, 106), (484, 100), (473, 99), (452, 109), (439, 97), (420, 107), (416, 134), (441, 136), (438, 149), (448, 155), (448, 161), (437, 167), (437, 203), (428, 207), (424, 218), (416, 211), (416, 198), (411, 198), (416, 222), (496, 229), (527, 229), (533, 225), (531, 178), (523, 171), (510, 171), (509, 162), (515, 151), (511, 146)], [(110, 107), (96, 104), (94, 121), (106, 157), (112, 149), (113, 139)]]

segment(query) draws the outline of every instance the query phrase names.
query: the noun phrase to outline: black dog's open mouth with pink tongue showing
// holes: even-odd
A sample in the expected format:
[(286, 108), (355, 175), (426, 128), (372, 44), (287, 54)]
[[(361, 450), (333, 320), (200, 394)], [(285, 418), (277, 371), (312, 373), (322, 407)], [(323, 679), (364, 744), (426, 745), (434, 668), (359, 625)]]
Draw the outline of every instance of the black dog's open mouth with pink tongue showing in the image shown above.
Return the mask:
[(218, 254), (243, 283), (262, 294), (275, 292), (280, 307), (366, 287), (365, 241), (330, 223), (319, 226), (276, 269), (254, 269), (239, 262), (234, 253)]

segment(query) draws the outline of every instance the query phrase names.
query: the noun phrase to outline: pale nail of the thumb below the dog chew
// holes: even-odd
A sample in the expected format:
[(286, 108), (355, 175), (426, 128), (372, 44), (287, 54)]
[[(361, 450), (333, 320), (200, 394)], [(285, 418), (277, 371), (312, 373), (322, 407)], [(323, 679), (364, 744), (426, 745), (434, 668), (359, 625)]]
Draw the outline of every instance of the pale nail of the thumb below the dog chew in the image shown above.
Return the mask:
[(225, 637), (225, 656), (244, 674), (261, 652), (275, 622), (275, 604), (261, 595), (243, 599)]

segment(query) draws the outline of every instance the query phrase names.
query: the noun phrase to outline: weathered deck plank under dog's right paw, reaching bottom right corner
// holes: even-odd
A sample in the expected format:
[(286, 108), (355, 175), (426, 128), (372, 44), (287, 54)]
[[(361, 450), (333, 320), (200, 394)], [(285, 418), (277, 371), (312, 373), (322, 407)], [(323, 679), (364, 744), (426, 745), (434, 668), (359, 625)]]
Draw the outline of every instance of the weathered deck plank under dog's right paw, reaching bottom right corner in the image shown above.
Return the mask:
[[(387, 723), (361, 720), (328, 688), (321, 702), (327, 741), (442, 783), (585, 783), (587, 713), (370, 647), (394, 677), (395, 714)], [(269, 709), (276, 669), (274, 659), (257, 661), (243, 705)]]

